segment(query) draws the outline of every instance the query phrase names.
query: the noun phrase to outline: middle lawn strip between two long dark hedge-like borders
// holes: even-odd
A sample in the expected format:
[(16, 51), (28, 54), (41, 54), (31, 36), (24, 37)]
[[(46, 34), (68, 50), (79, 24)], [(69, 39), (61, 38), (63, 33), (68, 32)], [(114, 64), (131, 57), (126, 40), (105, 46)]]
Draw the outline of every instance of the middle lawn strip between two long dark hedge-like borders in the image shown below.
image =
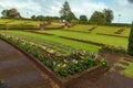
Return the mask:
[(127, 47), (127, 38), (125, 37), (98, 35), (95, 33), (78, 33), (78, 32), (62, 31), (62, 30), (50, 30), (50, 31), (42, 31), (42, 32), (52, 33), (52, 34), (60, 35), (60, 36), (66, 36), (66, 37), (73, 37), (73, 38), (79, 38), (79, 40), (84, 40), (84, 41), (103, 43), (108, 45)]

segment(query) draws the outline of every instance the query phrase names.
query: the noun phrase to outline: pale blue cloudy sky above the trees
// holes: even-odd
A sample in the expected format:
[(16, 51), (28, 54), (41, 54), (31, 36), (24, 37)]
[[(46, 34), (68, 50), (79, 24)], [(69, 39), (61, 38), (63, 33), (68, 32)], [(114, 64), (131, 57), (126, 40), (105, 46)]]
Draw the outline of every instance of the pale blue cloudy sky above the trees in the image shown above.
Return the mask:
[[(0, 0), (0, 12), (3, 9), (16, 8), (22, 16), (31, 15), (60, 15), (59, 11), (65, 0)], [(133, 21), (133, 0), (68, 0), (72, 11), (79, 18), (85, 14), (88, 18), (96, 11), (112, 9), (113, 22), (131, 23)], [(1, 15), (1, 14), (0, 14)]]

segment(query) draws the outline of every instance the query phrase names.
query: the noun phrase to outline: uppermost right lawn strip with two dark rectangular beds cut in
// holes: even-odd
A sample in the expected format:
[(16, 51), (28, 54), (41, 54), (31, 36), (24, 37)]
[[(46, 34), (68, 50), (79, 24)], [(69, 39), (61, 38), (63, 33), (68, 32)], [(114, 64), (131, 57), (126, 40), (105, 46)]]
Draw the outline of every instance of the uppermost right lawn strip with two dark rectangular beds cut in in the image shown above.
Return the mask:
[(78, 25), (69, 28), (66, 30), (89, 32), (89, 30), (93, 26), (96, 26), (96, 29), (93, 30), (91, 33), (105, 33), (105, 34), (122, 35), (122, 36), (129, 36), (129, 34), (130, 34), (130, 28), (126, 28), (122, 34), (115, 34), (115, 32), (117, 30), (120, 30), (121, 28), (119, 28), (119, 26), (89, 25), (89, 24), (88, 25), (78, 24)]

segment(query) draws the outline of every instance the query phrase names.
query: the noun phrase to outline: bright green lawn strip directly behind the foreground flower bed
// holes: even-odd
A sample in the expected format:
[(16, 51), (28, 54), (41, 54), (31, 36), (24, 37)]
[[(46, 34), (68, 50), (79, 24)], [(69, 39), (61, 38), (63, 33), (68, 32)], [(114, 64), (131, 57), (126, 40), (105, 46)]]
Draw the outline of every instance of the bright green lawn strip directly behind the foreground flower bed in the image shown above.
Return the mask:
[[(58, 45), (60, 46), (61, 44), (63, 45), (69, 45), (75, 48), (80, 48), (80, 50), (85, 50), (85, 51), (90, 51), (90, 52), (95, 52), (98, 53), (98, 51), (100, 50), (99, 46), (95, 45), (91, 45), (91, 44), (85, 44), (85, 43), (80, 43), (80, 42), (75, 42), (75, 41), (70, 41), (70, 40), (64, 40), (54, 35), (42, 35), (42, 34), (35, 34), (35, 33), (29, 33), (29, 32), (22, 32), (22, 31), (0, 31), (1, 33), (6, 33), (8, 35), (13, 35), (17, 37), (21, 37), (21, 38), (25, 38), (28, 41), (34, 42), (37, 44), (41, 44), (41, 45), (45, 45), (45, 43), (43, 41), (51, 41), (54, 43), (59, 43)], [(52, 45), (54, 46), (54, 45)], [(63, 50), (63, 48), (59, 48), (59, 50)], [(68, 51), (69, 52), (69, 51)]]

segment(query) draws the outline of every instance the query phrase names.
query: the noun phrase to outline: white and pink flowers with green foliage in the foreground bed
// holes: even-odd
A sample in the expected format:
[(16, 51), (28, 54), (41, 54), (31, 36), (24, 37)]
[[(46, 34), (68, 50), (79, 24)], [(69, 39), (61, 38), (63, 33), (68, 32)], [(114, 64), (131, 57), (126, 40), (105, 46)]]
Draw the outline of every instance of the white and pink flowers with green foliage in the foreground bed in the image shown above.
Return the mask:
[(54, 51), (25, 40), (6, 34), (0, 34), (0, 37), (33, 55), (59, 76), (68, 77), (96, 65), (108, 66), (106, 61), (95, 53), (74, 51), (69, 56), (57, 56)]

